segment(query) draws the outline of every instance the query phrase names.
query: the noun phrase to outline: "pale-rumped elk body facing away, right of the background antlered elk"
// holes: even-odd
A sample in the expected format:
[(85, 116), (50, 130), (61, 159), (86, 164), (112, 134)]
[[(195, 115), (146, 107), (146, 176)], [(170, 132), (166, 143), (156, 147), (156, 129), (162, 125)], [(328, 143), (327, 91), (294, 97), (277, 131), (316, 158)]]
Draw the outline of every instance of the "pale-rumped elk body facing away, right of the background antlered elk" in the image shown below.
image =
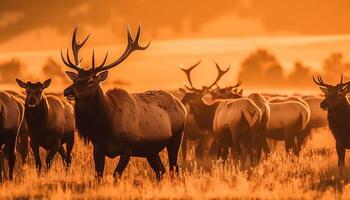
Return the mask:
[(216, 107), (213, 131), (215, 137), (221, 138), (219, 144), (229, 136), (236, 158), (243, 162), (245, 155), (252, 156), (257, 147), (260, 108), (248, 98), (214, 100), (210, 105)]

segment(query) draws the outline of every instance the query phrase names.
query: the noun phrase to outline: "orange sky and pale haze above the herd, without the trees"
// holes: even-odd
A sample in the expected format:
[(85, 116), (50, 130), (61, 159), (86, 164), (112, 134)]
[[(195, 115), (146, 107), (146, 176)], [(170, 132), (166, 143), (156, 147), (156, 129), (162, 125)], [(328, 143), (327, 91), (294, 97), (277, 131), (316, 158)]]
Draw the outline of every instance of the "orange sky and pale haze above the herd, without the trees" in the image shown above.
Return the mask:
[[(117, 57), (126, 44), (127, 24), (135, 30), (140, 23), (142, 41), (152, 41), (150, 49), (132, 55), (113, 76), (135, 89), (176, 87), (185, 80), (178, 65), (202, 59), (204, 72), (197, 77), (201, 84), (215, 77), (215, 59), (233, 65), (223, 81), (230, 82), (237, 65), (259, 47), (271, 50), (287, 68), (295, 60), (317, 68), (334, 51), (346, 55), (348, 8), (346, 0), (2, 0), (0, 61), (20, 58), (27, 73), (38, 76), (48, 56), (61, 62), (59, 50), (69, 47), (75, 26), (80, 37), (92, 34), (84, 57), (92, 47), (101, 56), (114, 48), (110, 52)], [(148, 74), (137, 73), (143, 69)]]

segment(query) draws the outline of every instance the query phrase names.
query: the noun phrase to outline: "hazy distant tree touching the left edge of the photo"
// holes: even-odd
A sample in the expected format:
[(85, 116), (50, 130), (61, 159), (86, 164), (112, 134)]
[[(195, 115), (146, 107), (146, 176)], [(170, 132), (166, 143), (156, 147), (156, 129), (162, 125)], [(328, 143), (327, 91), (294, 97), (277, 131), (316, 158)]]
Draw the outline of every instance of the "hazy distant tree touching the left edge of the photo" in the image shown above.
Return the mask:
[(14, 83), (15, 78), (20, 76), (22, 63), (18, 59), (12, 59), (0, 64), (1, 83)]

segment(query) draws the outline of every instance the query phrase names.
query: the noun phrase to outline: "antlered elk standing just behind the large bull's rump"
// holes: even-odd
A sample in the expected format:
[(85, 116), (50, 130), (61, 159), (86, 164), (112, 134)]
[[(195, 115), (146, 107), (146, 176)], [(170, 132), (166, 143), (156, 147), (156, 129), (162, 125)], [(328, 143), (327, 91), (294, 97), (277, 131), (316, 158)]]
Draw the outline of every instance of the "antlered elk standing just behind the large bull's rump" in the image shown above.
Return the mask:
[[(218, 70), (218, 75), (215, 81), (209, 86), (203, 86), (202, 89), (197, 89), (193, 86), (191, 72), (200, 64), (200, 62), (201, 61), (198, 61), (196, 64), (188, 67), (187, 69), (183, 68), (183, 66), (180, 68), (183, 72), (185, 72), (187, 80), (190, 84), (190, 86), (185, 85), (185, 89), (180, 88), (180, 90), (185, 94), (182, 98), (182, 102), (188, 110), (185, 133), (182, 141), (182, 156), (184, 161), (186, 160), (188, 140), (199, 140), (195, 149), (196, 157), (199, 158), (203, 156), (204, 151), (208, 149), (208, 146), (210, 146), (212, 139), (212, 121), (210, 120), (212, 120), (214, 113), (211, 109), (206, 108), (201, 98), (207, 92), (215, 93), (215, 97), (221, 95), (216, 90), (212, 91), (212, 87), (215, 86), (217, 82), (222, 78), (222, 76), (229, 70), (229, 67), (225, 70), (222, 70), (220, 66), (214, 62), (216, 69)], [(239, 85), (233, 86), (232, 88), (238, 86)], [(194, 105), (197, 106), (193, 107)], [(209, 118), (208, 115), (210, 115)]]

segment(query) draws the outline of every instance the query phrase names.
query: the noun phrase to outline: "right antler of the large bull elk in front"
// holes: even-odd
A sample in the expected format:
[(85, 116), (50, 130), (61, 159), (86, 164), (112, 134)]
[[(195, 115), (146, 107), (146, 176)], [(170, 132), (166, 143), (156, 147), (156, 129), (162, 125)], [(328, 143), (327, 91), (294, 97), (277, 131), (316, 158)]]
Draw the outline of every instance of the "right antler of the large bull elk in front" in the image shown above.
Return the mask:
[(141, 35), (141, 26), (139, 25), (135, 39), (132, 38), (131, 36), (131, 31), (130, 28), (128, 28), (127, 30), (127, 38), (128, 38), (128, 45), (126, 47), (126, 49), (124, 50), (124, 53), (114, 62), (108, 64), (108, 65), (100, 65), (99, 67), (95, 68), (94, 71), (95, 73), (98, 73), (100, 71), (104, 71), (104, 70), (108, 70), (111, 69), (117, 65), (119, 65), (120, 63), (122, 63), (127, 57), (129, 57), (129, 55), (136, 51), (136, 50), (145, 50), (148, 48), (148, 46), (151, 44), (151, 42), (149, 42), (146, 46), (140, 46), (139, 44), (139, 40), (140, 40), (140, 35)]

